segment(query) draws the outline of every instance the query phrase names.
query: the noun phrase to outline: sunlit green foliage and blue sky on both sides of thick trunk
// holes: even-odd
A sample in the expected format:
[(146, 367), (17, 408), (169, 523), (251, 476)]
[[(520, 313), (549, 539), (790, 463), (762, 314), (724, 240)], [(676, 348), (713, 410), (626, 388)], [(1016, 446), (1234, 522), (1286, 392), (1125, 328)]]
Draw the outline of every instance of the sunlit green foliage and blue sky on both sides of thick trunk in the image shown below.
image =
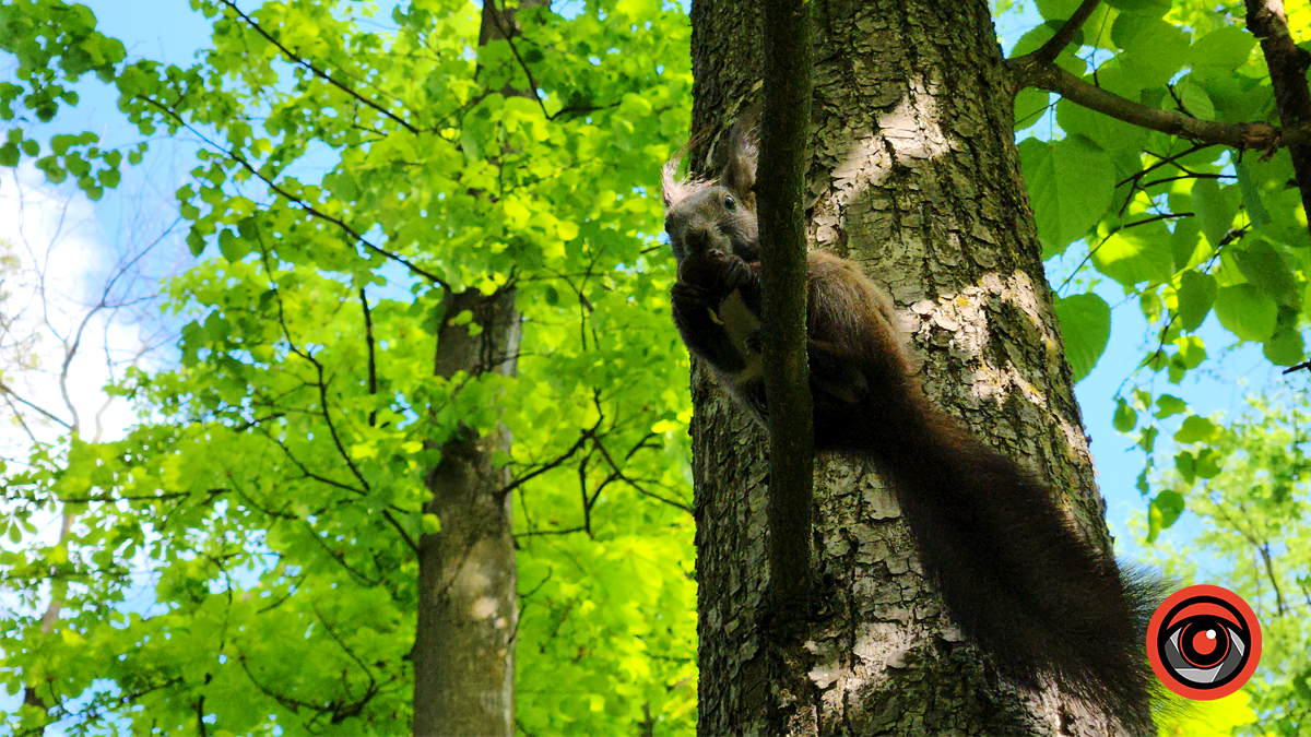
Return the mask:
[[(652, 189), (687, 136), (684, 8), (557, 3), (532, 50), (475, 52), (461, 3), (191, 5), (0, 9), (9, 727), (405, 733), (406, 549), (442, 523), (416, 468), (505, 422), (519, 729), (691, 734), (691, 403)], [(996, 4), (1007, 55), (1076, 5)], [(1311, 42), (1311, 9), (1289, 28)], [(1058, 63), (1277, 119), (1242, 4), (1105, 3)], [(526, 70), (538, 94), (488, 92)], [(1281, 367), (1311, 243), (1287, 152), (1181, 155), (1055, 101), (1019, 96), (1017, 142), (1117, 552), (1270, 624), (1253, 685), (1189, 729), (1295, 734), (1307, 379)], [(437, 287), (511, 282), (518, 378), (426, 375)]]

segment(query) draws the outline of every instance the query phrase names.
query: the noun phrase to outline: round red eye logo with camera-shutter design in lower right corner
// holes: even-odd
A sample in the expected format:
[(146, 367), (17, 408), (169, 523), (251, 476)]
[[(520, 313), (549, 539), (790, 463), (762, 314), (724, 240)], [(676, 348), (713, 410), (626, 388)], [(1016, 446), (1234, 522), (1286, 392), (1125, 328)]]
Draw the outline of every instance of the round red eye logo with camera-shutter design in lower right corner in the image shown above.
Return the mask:
[(1147, 660), (1167, 688), (1209, 702), (1247, 683), (1261, 660), (1261, 627), (1252, 607), (1219, 586), (1171, 595), (1147, 626)]

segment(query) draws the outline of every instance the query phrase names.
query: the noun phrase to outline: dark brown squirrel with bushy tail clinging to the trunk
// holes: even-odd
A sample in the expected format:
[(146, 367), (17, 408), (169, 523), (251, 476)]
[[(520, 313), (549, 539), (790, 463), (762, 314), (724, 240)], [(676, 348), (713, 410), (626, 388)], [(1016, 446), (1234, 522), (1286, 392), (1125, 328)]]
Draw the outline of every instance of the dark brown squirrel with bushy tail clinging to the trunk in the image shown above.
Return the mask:
[[(674, 321), (764, 424), (754, 136), (734, 129), (718, 178), (678, 180), (676, 168), (662, 172)], [(873, 463), (947, 611), (1004, 673), (1034, 688), (1050, 677), (1155, 734), (1143, 643), (1162, 586), (1122, 573), (1042, 483), (929, 401), (891, 299), (859, 265), (812, 249), (806, 268), (815, 450)]]

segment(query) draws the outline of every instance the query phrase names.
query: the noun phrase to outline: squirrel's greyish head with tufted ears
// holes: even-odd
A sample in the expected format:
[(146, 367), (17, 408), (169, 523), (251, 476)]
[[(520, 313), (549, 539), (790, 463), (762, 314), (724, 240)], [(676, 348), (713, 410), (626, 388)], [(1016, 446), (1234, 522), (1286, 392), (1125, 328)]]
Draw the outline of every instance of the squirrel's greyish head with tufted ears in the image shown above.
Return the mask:
[(722, 250), (760, 260), (755, 220), (755, 139), (743, 126), (729, 136), (728, 164), (718, 178), (675, 178), (678, 159), (665, 164), (665, 232), (682, 264), (688, 256)]

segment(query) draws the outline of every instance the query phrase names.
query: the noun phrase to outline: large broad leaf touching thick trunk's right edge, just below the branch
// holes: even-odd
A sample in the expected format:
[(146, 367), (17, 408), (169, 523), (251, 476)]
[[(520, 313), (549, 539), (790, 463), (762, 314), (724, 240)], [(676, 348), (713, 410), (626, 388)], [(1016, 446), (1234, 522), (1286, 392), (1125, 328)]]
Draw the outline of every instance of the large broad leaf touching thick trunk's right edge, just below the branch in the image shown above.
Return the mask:
[(1030, 138), (1019, 148), (1047, 258), (1083, 237), (1101, 218), (1114, 194), (1116, 169), (1109, 156), (1079, 135), (1058, 142)]

